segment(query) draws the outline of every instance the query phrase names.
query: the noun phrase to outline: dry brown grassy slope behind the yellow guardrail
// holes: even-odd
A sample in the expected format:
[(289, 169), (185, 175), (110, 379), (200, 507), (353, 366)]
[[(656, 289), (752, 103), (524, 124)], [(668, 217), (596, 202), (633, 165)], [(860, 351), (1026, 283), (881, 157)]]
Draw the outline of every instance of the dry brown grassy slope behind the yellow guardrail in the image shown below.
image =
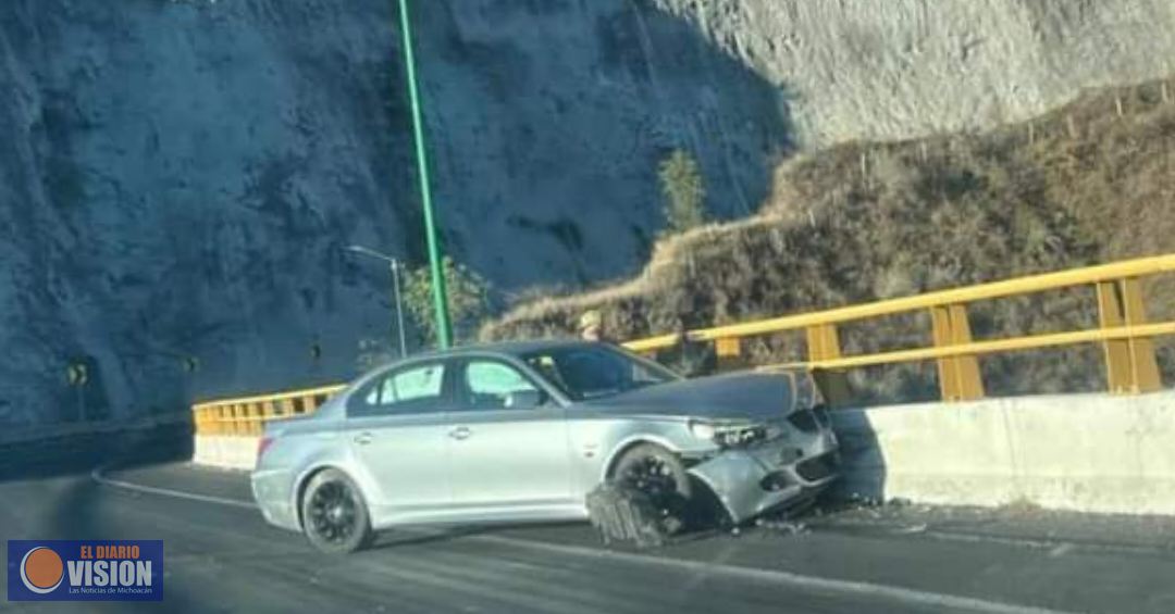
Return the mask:
[[(566, 335), (596, 308), (613, 336), (637, 338), (1175, 252), (1175, 86), (1167, 89), (1101, 90), (992, 133), (851, 143), (790, 161), (758, 216), (669, 238), (639, 277), (518, 306), (483, 336)], [(1152, 284), (1148, 297), (1152, 317), (1175, 316), (1175, 284)], [(1075, 289), (979, 304), (972, 319), (976, 336), (993, 337), (1092, 326), (1096, 313), (1092, 291)], [(927, 329), (922, 315), (891, 318), (847, 329), (844, 344), (909, 346), (926, 343)], [(768, 360), (803, 346), (766, 339), (751, 350)], [(983, 369), (1008, 392), (1096, 390), (1099, 357), (1085, 348)], [(1163, 358), (1171, 362), (1166, 349)], [(858, 378), (881, 397), (934, 389), (927, 365)]]

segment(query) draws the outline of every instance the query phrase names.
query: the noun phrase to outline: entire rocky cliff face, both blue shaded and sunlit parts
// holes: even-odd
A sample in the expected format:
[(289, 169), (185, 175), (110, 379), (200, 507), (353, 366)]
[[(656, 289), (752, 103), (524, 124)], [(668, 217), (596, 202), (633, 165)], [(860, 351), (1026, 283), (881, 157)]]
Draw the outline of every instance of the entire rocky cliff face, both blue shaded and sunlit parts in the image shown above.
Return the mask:
[[(387, 272), (341, 248), (422, 258), (392, 7), (0, 5), (0, 424), (335, 379), (387, 336)], [(795, 143), (1020, 119), (1175, 50), (1157, 0), (415, 7), (445, 243), (508, 289), (638, 266), (674, 147), (734, 217)]]

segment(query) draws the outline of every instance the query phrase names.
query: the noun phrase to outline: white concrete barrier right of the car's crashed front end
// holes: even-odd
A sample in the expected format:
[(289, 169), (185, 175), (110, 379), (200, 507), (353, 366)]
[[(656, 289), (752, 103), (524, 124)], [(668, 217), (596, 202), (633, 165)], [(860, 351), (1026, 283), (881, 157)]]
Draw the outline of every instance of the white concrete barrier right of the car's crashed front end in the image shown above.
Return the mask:
[(1175, 514), (1175, 392), (842, 410), (833, 424), (841, 493)]

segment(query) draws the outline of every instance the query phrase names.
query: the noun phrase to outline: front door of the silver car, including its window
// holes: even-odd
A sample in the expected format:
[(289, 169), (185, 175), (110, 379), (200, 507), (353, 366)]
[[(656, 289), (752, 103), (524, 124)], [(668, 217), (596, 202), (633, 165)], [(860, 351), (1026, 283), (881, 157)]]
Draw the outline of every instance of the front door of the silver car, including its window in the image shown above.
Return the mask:
[(571, 502), (564, 409), (522, 369), (470, 357), (457, 366), (449, 414), (455, 506), (543, 515)]

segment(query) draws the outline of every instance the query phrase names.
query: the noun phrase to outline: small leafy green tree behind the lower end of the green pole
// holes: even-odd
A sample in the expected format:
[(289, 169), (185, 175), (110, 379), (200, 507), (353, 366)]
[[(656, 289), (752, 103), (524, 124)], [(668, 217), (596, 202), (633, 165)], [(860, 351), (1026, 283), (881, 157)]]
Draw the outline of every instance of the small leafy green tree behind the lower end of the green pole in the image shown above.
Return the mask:
[[(458, 264), (449, 256), (443, 261), (449, 318), (455, 339), (474, 332), (490, 309), (490, 283)], [(428, 266), (408, 271), (404, 281), (404, 306), (416, 322), (425, 343), (437, 338), (436, 311), (432, 303), (432, 274)]]

